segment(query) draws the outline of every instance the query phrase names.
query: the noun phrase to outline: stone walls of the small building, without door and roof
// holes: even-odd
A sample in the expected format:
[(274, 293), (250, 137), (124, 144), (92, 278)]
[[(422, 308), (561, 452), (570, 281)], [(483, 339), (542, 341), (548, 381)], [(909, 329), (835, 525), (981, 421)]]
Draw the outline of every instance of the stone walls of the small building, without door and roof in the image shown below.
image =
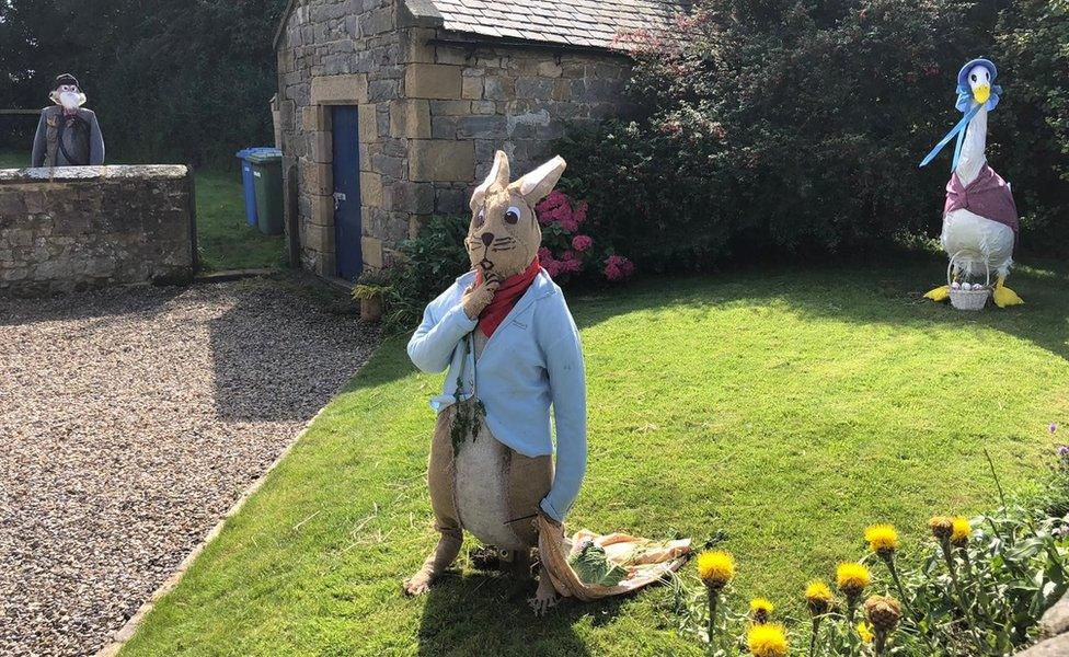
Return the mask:
[(276, 37), (284, 172), (297, 196), (287, 227), (299, 231), (302, 266), (321, 276), (336, 272), (332, 106), (359, 110), (361, 251), (372, 268), (432, 215), (465, 214), (495, 150), (519, 174), (566, 129), (621, 112), (625, 57), (474, 43), (410, 4), (291, 0)]

